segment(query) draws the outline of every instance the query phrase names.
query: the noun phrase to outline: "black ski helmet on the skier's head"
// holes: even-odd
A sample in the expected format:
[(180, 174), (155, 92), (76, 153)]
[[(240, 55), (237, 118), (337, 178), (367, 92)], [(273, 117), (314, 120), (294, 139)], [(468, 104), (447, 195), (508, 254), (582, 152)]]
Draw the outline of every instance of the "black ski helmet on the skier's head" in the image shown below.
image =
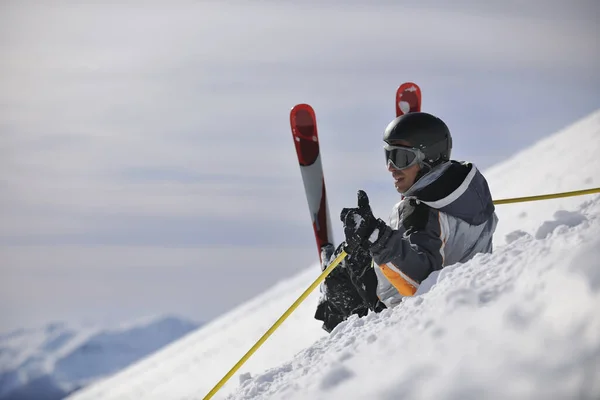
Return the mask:
[(425, 112), (410, 112), (389, 123), (383, 134), (389, 145), (406, 141), (425, 155), (425, 163), (434, 167), (450, 160), (452, 136), (448, 126), (438, 117)]

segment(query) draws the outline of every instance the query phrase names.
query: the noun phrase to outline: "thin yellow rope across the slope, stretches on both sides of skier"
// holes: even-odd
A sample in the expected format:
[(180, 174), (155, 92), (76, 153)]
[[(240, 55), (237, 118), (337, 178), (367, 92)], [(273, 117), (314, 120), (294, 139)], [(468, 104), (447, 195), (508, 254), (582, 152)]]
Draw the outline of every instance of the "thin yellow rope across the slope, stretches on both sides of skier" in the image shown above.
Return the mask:
[[(592, 193), (600, 193), (600, 188), (575, 190), (572, 192), (562, 192), (562, 193), (554, 193), (554, 194), (543, 194), (543, 195), (529, 196), (529, 197), (515, 197), (512, 199), (494, 200), (494, 204), (499, 205), (499, 204), (523, 203), (523, 202), (527, 202), (527, 201), (537, 201), (537, 200), (558, 199), (561, 197), (582, 196), (585, 194), (592, 194)], [(263, 345), (263, 343), (269, 338), (269, 336), (271, 336), (273, 334), (273, 332), (275, 332), (277, 330), (277, 328), (279, 328), (279, 326), (283, 323), (283, 321), (285, 321), (287, 319), (287, 317), (289, 317), (290, 314), (292, 312), (294, 312), (294, 310), (296, 308), (298, 308), (298, 306), (308, 297), (308, 295), (317, 286), (319, 286), (319, 284), (327, 277), (327, 275), (329, 275), (329, 273), (331, 271), (333, 271), (333, 269), (335, 267), (337, 267), (340, 262), (342, 262), (342, 260), (346, 257), (346, 255), (347, 255), (347, 253), (345, 251), (342, 251), (335, 258), (335, 260), (333, 260), (331, 262), (331, 264), (329, 264), (329, 266), (321, 273), (321, 275), (319, 275), (317, 277), (317, 279), (315, 279), (315, 281), (300, 295), (300, 297), (298, 297), (298, 299), (296, 299), (296, 301), (290, 306), (290, 308), (288, 308), (287, 311), (285, 313), (283, 313), (283, 315), (281, 317), (279, 317), (279, 319), (277, 321), (275, 321), (273, 326), (271, 326), (269, 328), (269, 330), (267, 332), (265, 332), (265, 334), (262, 335), (262, 337), (260, 339), (258, 339), (258, 341), (254, 344), (254, 346), (252, 346), (252, 348), (250, 350), (248, 350), (248, 352), (246, 354), (244, 354), (244, 356), (233, 366), (233, 368), (231, 368), (229, 370), (229, 372), (227, 374), (225, 374), (225, 376), (215, 385), (215, 387), (213, 387), (212, 390), (210, 392), (208, 392), (208, 394), (204, 397), (203, 400), (209, 400), (210, 398), (212, 398), (215, 395), (215, 393), (217, 393), (219, 391), (219, 389), (221, 389), (223, 387), (223, 385), (225, 385), (225, 383), (227, 383), (227, 381), (233, 376), (233, 374), (235, 374), (237, 372), (237, 370), (240, 369), (240, 367), (252, 356), (252, 354), (254, 354), (256, 352), (256, 350), (258, 350), (258, 348)]]

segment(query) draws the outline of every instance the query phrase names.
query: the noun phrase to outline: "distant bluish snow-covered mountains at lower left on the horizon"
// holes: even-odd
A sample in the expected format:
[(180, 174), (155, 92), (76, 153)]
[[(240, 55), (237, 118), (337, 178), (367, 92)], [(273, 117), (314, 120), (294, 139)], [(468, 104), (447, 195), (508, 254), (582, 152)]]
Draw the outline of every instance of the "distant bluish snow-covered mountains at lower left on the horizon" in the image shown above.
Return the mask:
[(0, 399), (61, 399), (140, 360), (199, 324), (174, 316), (111, 329), (52, 323), (0, 335)]

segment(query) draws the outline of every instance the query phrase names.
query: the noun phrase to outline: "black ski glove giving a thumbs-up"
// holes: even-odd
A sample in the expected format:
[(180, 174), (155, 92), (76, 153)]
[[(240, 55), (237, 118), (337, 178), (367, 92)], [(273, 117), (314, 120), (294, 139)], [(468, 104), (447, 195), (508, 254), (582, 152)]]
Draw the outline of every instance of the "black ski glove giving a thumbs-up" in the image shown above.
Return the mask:
[(340, 220), (344, 223), (348, 253), (358, 247), (369, 250), (384, 236), (389, 236), (391, 230), (384, 221), (375, 218), (369, 205), (369, 197), (363, 190), (358, 191), (358, 207), (342, 209)]

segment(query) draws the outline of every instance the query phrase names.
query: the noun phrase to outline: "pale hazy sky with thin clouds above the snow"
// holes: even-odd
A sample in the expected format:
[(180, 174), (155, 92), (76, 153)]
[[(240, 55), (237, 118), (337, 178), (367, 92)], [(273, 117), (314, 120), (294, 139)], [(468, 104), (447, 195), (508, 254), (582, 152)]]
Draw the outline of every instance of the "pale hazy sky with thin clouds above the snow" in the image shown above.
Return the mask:
[(398, 200), (400, 83), (484, 170), (600, 105), (597, 2), (412, 3), (2, 2), (0, 331), (208, 320), (317, 262), (297, 103), (336, 242), (357, 189)]

